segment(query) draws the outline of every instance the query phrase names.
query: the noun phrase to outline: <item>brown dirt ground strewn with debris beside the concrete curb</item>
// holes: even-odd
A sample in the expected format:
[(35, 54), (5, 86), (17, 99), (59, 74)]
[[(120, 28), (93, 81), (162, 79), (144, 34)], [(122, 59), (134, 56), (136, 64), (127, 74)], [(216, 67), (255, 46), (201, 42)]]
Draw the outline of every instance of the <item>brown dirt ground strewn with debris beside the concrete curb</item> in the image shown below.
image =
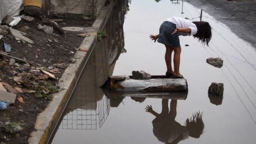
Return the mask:
[[(63, 19), (58, 23), (61, 27), (90, 27), (93, 20)], [(60, 35), (55, 29), (54, 34), (46, 34), (37, 29), (38, 24), (44, 25), (41, 19), (35, 18), (31, 22), (21, 20), (18, 25), (12, 27), (27, 33), (26, 37), (32, 39), (35, 44), (17, 40), (10, 32), (4, 34), (0, 40), (0, 51), (4, 51), (4, 42), (9, 43), (9, 55), (27, 60), (27, 63), (16, 60), (14, 64), (10, 64), (10, 58), (0, 57), (0, 83), (10, 84), (12, 90), (15, 88), (12, 93), (17, 94), (19, 98), (7, 109), (0, 111), (1, 144), (28, 143), (29, 134), (34, 130), (36, 116), (46, 108), (51, 100), (51, 94), (58, 91), (58, 78), (69, 63), (75, 62), (71, 58), (85, 38), (67, 31)], [(50, 72), (57, 79), (51, 78), (40, 69)], [(7, 91), (10, 92), (9, 89)], [(3, 126), (6, 122), (19, 123), (23, 130), (6, 132)]]

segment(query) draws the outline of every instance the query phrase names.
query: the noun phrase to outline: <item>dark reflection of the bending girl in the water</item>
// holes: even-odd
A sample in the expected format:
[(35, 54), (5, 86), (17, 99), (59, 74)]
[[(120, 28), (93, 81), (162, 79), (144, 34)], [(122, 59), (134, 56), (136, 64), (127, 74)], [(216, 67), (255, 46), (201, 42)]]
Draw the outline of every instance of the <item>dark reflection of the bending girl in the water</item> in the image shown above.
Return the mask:
[(153, 133), (159, 141), (165, 143), (179, 143), (181, 140), (187, 139), (189, 136), (199, 138), (204, 130), (204, 122), (200, 111), (187, 118), (185, 126), (175, 121), (177, 115), (177, 100), (171, 100), (170, 111), (168, 108), (168, 99), (162, 100), (162, 112), (160, 114), (148, 105), (146, 111), (156, 116), (152, 121)]

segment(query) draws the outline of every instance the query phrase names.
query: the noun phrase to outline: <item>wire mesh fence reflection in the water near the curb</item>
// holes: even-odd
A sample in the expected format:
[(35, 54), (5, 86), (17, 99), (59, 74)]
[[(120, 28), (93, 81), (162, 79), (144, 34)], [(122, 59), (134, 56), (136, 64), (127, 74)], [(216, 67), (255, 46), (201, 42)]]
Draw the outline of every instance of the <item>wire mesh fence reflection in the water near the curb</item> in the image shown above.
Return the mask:
[(96, 130), (104, 124), (110, 111), (109, 99), (105, 96), (99, 101), (84, 98), (76, 100), (77, 109), (63, 117), (59, 129)]

